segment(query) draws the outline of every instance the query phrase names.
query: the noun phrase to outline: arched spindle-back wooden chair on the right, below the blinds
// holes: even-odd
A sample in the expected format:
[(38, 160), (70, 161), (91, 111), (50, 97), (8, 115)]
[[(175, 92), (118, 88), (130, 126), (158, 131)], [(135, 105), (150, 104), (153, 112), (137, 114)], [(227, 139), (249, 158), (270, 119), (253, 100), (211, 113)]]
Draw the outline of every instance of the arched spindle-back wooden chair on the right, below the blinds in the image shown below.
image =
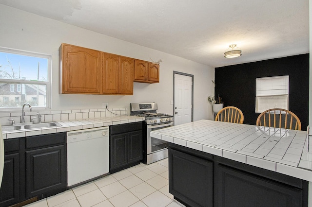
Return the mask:
[(256, 121), (257, 126), (301, 130), (301, 121), (289, 110), (272, 108), (262, 112)]

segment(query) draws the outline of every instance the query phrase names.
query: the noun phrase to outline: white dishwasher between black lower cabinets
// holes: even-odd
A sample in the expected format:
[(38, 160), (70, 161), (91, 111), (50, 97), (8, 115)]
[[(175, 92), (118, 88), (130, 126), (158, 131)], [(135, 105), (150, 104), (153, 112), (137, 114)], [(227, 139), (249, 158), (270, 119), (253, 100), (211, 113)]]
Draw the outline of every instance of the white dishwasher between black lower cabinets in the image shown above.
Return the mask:
[(67, 132), (67, 186), (109, 172), (109, 127)]

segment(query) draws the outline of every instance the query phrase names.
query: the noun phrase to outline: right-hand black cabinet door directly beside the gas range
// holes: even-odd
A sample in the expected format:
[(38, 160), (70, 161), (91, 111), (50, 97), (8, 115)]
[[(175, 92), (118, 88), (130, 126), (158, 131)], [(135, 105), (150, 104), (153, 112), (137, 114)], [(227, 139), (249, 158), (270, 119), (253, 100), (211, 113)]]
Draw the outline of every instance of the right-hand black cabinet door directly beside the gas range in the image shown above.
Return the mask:
[(142, 130), (128, 133), (128, 163), (143, 159)]

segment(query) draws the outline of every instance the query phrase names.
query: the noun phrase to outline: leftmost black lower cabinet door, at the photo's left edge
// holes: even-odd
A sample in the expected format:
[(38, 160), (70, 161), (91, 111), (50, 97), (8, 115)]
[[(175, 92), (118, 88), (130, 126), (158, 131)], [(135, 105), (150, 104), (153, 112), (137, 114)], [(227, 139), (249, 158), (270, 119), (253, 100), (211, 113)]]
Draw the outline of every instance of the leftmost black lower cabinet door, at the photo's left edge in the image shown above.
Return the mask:
[(0, 207), (20, 201), (19, 153), (4, 156), (4, 169), (0, 189)]

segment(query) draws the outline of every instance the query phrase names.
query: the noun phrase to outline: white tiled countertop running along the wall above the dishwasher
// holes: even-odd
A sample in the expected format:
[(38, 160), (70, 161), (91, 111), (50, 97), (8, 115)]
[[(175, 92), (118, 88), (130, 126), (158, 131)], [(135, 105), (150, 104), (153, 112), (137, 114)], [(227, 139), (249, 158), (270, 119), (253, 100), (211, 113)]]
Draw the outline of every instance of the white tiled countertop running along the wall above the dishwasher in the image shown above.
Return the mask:
[(128, 115), (120, 115), (116, 117), (97, 117), (78, 120), (57, 121), (61, 126), (37, 128), (37, 129), (22, 129), (15, 131), (2, 132), (3, 139), (6, 138), (20, 138), (35, 135), (52, 134), (58, 132), (68, 132), (81, 129), (96, 128), (102, 126), (110, 126), (122, 123), (131, 123), (143, 121), (144, 118)]

